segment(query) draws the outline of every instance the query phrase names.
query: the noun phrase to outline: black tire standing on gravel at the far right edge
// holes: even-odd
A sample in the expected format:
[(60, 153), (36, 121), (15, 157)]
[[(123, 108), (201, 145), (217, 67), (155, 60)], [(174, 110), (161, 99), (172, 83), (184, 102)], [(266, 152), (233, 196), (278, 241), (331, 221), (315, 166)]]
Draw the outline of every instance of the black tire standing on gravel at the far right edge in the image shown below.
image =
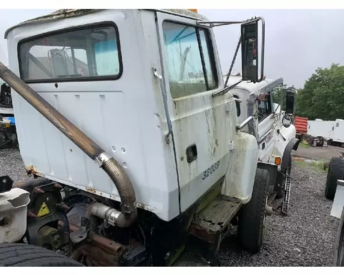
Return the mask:
[(344, 178), (344, 159), (341, 157), (332, 157), (328, 166), (327, 178), (325, 184), (326, 199), (334, 199), (337, 188), (337, 180)]

